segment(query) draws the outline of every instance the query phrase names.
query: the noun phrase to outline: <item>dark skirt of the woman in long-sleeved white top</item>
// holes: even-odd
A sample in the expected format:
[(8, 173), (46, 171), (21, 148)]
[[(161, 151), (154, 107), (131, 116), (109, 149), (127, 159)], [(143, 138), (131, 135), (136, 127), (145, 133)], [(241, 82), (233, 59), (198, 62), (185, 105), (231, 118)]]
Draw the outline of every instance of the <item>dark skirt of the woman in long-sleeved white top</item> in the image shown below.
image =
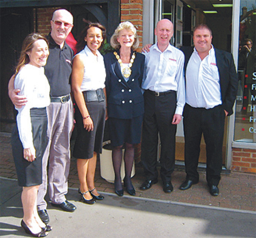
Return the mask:
[(47, 112), (44, 108), (33, 108), (30, 110), (33, 143), (36, 150), (36, 158), (29, 162), (24, 159), (23, 145), (19, 139), (17, 125), (12, 131), (12, 155), (16, 167), (18, 185), (30, 187), (42, 183), (42, 156), (48, 143), (47, 140)]

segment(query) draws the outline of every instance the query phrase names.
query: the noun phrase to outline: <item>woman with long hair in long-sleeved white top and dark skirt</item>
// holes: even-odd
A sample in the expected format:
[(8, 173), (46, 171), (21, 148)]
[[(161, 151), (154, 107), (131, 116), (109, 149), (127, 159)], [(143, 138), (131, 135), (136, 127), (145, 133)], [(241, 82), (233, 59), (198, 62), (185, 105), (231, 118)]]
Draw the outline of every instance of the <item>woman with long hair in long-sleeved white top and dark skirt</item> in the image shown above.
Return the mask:
[(23, 187), (21, 225), (35, 237), (44, 237), (52, 229), (41, 221), (36, 208), (37, 192), (42, 183), (42, 155), (47, 145), (46, 106), (50, 104), (50, 85), (42, 66), (48, 55), (47, 39), (37, 33), (28, 35), (23, 42), (14, 80), (19, 94), (28, 100), (25, 106), (16, 108), (17, 127), (12, 134), (18, 184)]

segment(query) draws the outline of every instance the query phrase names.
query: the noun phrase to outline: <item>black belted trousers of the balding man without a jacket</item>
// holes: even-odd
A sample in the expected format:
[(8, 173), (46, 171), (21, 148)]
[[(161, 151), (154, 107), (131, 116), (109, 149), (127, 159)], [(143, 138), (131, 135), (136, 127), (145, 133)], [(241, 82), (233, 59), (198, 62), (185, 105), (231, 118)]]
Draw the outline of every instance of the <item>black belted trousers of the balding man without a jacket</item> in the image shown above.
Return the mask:
[(141, 161), (146, 179), (156, 180), (158, 133), (161, 140), (161, 179), (169, 182), (175, 164), (175, 135), (177, 126), (172, 124), (176, 109), (176, 92), (155, 96), (144, 93), (145, 113), (142, 126)]

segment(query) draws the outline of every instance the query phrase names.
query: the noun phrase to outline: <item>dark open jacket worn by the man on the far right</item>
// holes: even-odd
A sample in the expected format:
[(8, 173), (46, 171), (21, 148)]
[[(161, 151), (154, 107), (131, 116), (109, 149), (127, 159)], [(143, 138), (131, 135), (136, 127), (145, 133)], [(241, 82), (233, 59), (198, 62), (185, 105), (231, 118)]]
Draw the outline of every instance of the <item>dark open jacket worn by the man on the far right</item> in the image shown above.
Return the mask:
[[(194, 47), (181, 47), (180, 50), (185, 55), (184, 71), (186, 78), (186, 67), (191, 54), (194, 51)], [(222, 107), (228, 112), (228, 116), (233, 114), (233, 104), (237, 97), (238, 91), (238, 74), (236, 67), (234, 66), (234, 60), (232, 54), (218, 50), (215, 50), (216, 64), (220, 76), (220, 88), (221, 88), (221, 101)]]

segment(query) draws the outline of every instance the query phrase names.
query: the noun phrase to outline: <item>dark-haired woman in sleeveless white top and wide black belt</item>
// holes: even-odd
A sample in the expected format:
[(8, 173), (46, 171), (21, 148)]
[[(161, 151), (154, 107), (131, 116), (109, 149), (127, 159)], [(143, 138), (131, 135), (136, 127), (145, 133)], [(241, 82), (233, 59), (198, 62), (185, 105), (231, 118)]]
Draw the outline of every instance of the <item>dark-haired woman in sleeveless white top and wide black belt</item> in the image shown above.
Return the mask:
[(102, 200), (94, 185), (97, 154), (102, 151), (105, 124), (105, 67), (98, 49), (106, 30), (99, 23), (89, 25), (81, 32), (73, 60), (72, 92), (76, 101), (75, 120), (77, 138), (73, 156), (77, 158), (81, 200), (94, 204)]

